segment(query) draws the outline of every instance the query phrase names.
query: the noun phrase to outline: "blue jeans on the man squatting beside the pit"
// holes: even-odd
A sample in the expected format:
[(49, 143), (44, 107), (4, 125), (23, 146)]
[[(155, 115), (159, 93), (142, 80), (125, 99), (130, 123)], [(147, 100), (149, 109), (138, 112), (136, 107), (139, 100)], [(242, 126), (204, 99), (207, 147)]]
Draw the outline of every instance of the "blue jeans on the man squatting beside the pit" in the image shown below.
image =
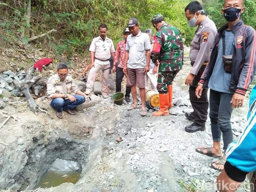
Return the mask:
[(69, 99), (63, 99), (63, 98), (55, 98), (52, 100), (50, 105), (56, 109), (56, 111), (62, 111), (63, 108), (65, 110), (71, 110), (77, 107), (78, 105), (85, 102), (84, 96), (82, 95), (73, 95), (76, 98), (75, 102), (71, 102)]

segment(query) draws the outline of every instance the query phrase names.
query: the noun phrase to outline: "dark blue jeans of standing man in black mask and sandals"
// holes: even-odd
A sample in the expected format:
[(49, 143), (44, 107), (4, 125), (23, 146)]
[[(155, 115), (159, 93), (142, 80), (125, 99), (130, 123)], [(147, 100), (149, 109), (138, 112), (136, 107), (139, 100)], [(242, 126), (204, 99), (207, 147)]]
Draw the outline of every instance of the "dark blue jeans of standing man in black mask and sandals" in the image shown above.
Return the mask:
[(233, 94), (221, 93), (210, 90), (210, 119), (211, 132), (214, 141), (221, 140), (221, 133), (223, 138), (223, 150), (227, 150), (227, 146), (233, 142), (233, 132), (230, 124), (230, 117), (232, 113), (231, 99)]

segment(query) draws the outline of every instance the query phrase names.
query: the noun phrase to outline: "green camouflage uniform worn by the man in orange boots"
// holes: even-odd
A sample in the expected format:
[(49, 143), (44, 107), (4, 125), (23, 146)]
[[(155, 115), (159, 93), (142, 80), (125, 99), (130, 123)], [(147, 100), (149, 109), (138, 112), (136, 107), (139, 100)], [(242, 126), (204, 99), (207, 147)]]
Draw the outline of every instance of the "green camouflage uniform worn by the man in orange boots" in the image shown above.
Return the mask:
[(183, 65), (183, 43), (180, 30), (164, 23), (154, 35), (150, 57), (154, 63), (159, 61), (157, 90), (159, 93), (167, 93), (167, 86), (172, 84)]

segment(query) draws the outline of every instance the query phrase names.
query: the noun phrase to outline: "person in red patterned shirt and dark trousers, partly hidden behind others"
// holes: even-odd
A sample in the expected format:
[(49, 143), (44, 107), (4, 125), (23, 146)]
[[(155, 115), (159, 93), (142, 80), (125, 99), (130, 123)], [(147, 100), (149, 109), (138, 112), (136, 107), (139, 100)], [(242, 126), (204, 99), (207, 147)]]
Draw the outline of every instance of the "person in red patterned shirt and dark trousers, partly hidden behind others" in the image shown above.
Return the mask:
[[(129, 31), (128, 27), (126, 27), (123, 31), (123, 37), (124, 40), (118, 42), (117, 47), (116, 47), (116, 54), (114, 58), (114, 66), (112, 68), (112, 72), (114, 73), (116, 71), (116, 92), (121, 91), (121, 82), (123, 81), (124, 78), (124, 55), (125, 55), (125, 46), (126, 46), (126, 40), (128, 35), (130, 35), (131, 32)], [(120, 62), (118, 63), (118, 59), (120, 59)], [(125, 101), (126, 102), (131, 102), (130, 99), (130, 94), (131, 94), (131, 87), (126, 86), (126, 91), (125, 91)]]

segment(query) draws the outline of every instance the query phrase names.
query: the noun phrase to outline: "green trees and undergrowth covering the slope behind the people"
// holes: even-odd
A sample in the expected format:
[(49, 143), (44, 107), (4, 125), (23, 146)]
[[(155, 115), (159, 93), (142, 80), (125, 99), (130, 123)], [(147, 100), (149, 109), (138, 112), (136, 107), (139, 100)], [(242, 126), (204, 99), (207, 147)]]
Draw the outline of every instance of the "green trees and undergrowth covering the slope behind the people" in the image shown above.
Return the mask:
[[(156, 13), (181, 30), (189, 45), (195, 28), (187, 25), (184, 8), (191, 0), (0, 0), (0, 38), (23, 39), (42, 48), (54, 48), (57, 54), (70, 57), (73, 53), (88, 53), (91, 39), (98, 35), (98, 25), (109, 26), (108, 36), (114, 44), (122, 39), (123, 28), (130, 17), (136, 17), (143, 30), (153, 28), (151, 18)], [(217, 27), (225, 23), (221, 15), (223, 0), (200, 1)], [(256, 1), (244, 0), (242, 18), (247, 25), (256, 27)], [(57, 32), (31, 41), (30, 38), (56, 29)]]

